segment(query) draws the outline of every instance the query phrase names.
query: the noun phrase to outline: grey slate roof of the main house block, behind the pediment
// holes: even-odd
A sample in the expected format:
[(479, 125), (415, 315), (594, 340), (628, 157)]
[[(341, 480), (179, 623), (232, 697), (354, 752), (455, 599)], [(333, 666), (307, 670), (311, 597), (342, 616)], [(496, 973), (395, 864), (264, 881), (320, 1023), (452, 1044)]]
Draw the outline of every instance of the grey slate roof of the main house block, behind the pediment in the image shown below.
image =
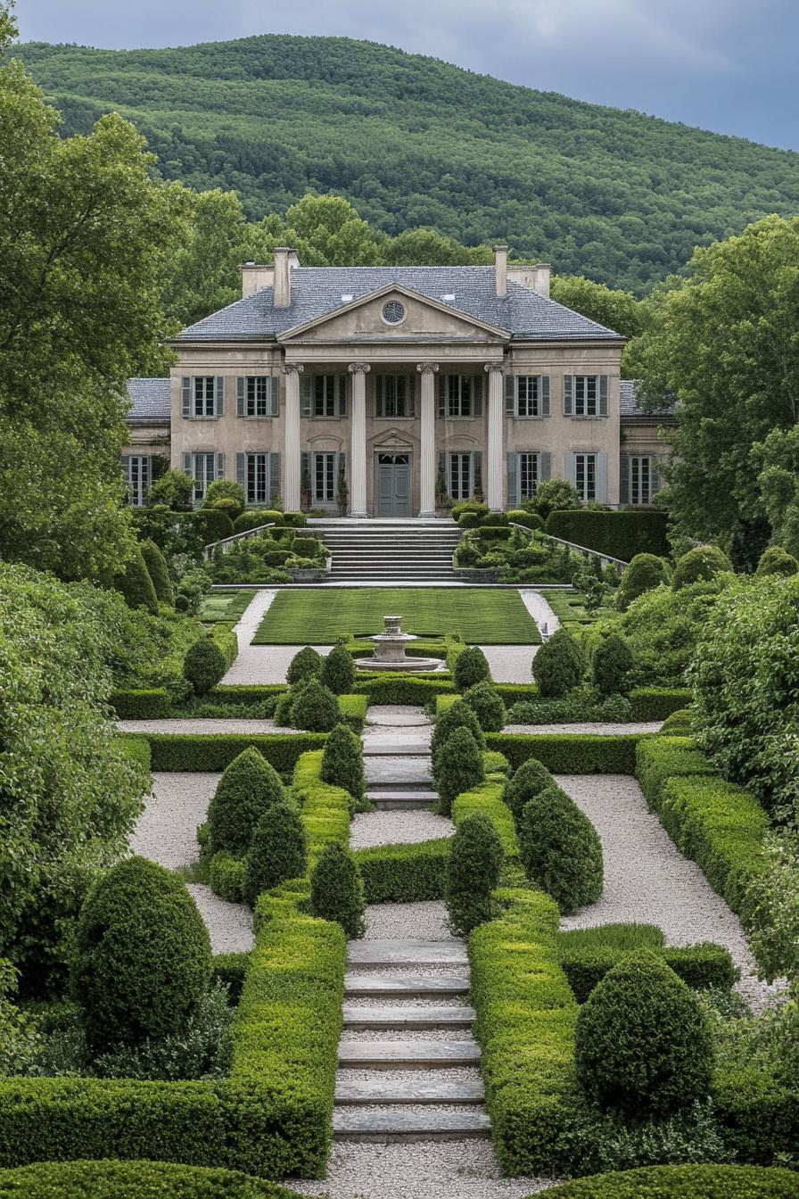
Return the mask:
[[(343, 295), (358, 300), (392, 283), (507, 330), (513, 338), (621, 339), (604, 325), (517, 283), (508, 283), (508, 294), (497, 296), (492, 266), (298, 266), (291, 271), (291, 305), (287, 308), (276, 308), (273, 289), (264, 288), (189, 325), (178, 341), (271, 339), (307, 320), (345, 307), (350, 301), (343, 301)], [(446, 295), (455, 299), (444, 300)]]

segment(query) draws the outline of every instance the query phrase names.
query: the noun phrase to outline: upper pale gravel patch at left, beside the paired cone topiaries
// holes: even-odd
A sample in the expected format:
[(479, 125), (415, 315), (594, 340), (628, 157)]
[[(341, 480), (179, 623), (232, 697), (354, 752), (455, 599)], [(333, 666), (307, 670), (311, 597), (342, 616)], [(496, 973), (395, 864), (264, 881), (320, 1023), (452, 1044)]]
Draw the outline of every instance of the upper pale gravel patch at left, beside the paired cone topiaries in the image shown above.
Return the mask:
[(152, 795), (131, 837), (132, 851), (170, 870), (195, 862), (200, 855), (196, 827), (205, 820), (220, 777), (204, 772), (153, 775)]

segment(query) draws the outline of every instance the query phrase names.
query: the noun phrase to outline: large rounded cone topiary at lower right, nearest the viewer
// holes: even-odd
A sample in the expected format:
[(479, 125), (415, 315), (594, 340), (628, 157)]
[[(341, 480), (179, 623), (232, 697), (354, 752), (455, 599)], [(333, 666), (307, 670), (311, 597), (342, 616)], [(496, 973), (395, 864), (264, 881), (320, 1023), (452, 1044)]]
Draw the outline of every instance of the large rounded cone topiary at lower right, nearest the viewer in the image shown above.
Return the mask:
[(700, 1000), (649, 950), (627, 954), (580, 1008), (577, 1078), (591, 1099), (636, 1114), (689, 1107), (710, 1089)]

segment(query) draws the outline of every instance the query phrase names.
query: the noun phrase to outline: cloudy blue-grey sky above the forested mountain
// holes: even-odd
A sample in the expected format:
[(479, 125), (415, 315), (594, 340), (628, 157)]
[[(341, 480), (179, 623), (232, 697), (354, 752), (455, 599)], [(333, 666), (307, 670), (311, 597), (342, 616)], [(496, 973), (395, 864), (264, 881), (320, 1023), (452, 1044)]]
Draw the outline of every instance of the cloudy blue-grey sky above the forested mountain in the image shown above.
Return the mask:
[(799, 150), (795, 0), (18, 0), (17, 13), (24, 40), (110, 48), (361, 37)]

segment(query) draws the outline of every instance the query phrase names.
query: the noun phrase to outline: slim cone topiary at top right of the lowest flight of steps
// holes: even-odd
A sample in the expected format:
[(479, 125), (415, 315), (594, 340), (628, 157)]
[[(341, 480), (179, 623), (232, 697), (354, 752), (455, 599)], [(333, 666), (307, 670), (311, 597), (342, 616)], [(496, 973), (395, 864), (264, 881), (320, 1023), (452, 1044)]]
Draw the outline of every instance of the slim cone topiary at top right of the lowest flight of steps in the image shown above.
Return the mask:
[(504, 850), (488, 817), (478, 813), (458, 825), (447, 862), (447, 908), (453, 929), (467, 936), (495, 914)]

